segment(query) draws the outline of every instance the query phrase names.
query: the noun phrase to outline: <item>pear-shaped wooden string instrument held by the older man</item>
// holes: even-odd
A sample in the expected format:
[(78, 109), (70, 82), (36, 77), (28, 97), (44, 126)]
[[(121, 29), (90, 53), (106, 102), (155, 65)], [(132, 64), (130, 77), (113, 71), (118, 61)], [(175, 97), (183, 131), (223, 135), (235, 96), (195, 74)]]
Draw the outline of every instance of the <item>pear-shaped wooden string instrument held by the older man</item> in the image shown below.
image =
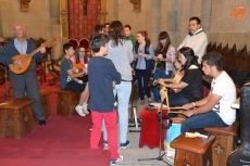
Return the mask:
[(12, 58), (13, 61), (21, 61), (22, 64), (21, 66), (16, 67), (14, 64), (9, 64), (9, 68), (15, 73), (15, 74), (23, 74), (25, 73), (28, 67), (32, 64), (32, 60), (33, 56), (39, 52), (39, 50), (41, 49), (41, 47), (48, 48), (51, 47), (55, 41), (55, 38), (51, 38), (50, 40), (46, 41), (42, 43), (42, 46), (40, 46), (39, 48), (37, 48), (36, 50), (34, 50), (32, 53), (29, 54), (18, 54)]

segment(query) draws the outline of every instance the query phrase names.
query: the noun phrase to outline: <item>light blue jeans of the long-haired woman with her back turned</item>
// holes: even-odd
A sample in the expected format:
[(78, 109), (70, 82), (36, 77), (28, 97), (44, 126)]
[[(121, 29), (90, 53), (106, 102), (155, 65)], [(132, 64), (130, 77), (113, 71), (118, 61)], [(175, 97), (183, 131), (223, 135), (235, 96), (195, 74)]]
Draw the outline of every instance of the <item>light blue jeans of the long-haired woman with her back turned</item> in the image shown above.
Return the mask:
[[(118, 100), (118, 126), (120, 126), (120, 143), (125, 143), (127, 141), (127, 129), (128, 129), (128, 102), (132, 93), (132, 82), (121, 81), (116, 85), (114, 90), (114, 95), (117, 94)], [(107, 129), (104, 123), (102, 123), (103, 139), (107, 140)]]

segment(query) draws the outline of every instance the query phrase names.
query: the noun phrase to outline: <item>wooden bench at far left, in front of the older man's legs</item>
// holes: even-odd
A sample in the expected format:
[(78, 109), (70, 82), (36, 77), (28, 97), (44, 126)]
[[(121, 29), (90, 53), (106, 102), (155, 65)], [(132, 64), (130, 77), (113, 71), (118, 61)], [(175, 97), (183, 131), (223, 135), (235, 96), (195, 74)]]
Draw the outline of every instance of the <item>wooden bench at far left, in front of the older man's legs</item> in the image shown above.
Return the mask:
[(21, 139), (34, 130), (34, 118), (30, 99), (13, 99), (0, 104), (0, 137)]

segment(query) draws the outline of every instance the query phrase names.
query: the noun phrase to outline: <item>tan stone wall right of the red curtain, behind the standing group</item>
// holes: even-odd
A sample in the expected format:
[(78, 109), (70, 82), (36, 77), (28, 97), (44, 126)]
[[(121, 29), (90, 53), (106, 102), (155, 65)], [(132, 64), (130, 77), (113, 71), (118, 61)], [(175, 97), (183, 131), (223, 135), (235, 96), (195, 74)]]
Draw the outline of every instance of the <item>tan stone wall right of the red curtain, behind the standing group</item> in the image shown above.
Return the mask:
[[(183, 41), (188, 33), (188, 22), (191, 16), (201, 18), (201, 26), (208, 35), (209, 41), (223, 46), (236, 43), (238, 49), (243, 46), (250, 48), (250, 17), (232, 20), (233, 7), (250, 8), (249, 0), (141, 0), (141, 11), (133, 12), (129, 0), (109, 0), (108, 20), (120, 20), (123, 24), (130, 24), (133, 34), (148, 30), (154, 48), (158, 34), (166, 30), (175, 47)], [(247, 14), (246, 14), (247, 15)]]

